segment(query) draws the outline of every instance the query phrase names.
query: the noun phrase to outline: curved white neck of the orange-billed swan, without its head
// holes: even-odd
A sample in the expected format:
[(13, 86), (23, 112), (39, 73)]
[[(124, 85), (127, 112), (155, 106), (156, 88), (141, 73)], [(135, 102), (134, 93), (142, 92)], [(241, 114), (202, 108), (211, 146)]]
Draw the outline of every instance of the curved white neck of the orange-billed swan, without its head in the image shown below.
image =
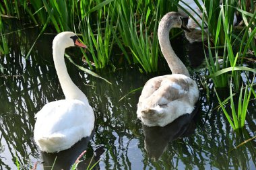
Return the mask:
[(65, 48), (62, 46), (53, 45), (53, 60), (55, 63), (55, 69), (61, 83), (61, 88), (66, 99), (79, 99), (88, 103), (86, 95), (73, 83), (69, 74), (67, 73), (67, 67), (64, 59)]

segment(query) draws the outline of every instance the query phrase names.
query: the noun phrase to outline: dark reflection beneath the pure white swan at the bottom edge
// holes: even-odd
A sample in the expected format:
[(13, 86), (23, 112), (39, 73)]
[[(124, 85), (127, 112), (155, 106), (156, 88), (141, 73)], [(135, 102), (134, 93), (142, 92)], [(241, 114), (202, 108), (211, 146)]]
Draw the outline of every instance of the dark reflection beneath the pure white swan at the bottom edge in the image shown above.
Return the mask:
[[(88, 148), (88, 143), (90, 141), (92, 136), (82, 138), (79, 142), (74, 144), (71, 148), (61, 151), (59, 153), (45, 153), (42, 152), (42, 165), (44, 167), (44, 170), (50, 170), (50, 169), (71, 169), (71, 166), (75, 163), (79, 155), (81, 155), (84, 151)], [(99, 146), (94, 151), (94, 157), (90, 157), (86, 160), (80, 159), (80, 163), (77, 166), (77, 170), (79, 169), (87, 169), (87, 167), (90, 165), (94, 165), (97, 163), (97, 161), (100, 159), (100, 156), (105, 152), (104, 146)], [(92, 161), (92, 162), (91, 162)], [(97, 169), (96, 167), (94, 167)]]

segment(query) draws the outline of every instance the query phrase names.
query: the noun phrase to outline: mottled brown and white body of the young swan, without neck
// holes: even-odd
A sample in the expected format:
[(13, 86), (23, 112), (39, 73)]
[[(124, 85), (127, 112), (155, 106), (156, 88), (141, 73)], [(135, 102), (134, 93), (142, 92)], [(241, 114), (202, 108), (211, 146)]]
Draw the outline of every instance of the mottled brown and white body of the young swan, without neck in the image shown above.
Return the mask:
[(181, 75), (150, 79), (137, 105), (137, 118), (146, 126), (166, 126), (183, 114), (191, 114), (199, 97), (197, 84)]

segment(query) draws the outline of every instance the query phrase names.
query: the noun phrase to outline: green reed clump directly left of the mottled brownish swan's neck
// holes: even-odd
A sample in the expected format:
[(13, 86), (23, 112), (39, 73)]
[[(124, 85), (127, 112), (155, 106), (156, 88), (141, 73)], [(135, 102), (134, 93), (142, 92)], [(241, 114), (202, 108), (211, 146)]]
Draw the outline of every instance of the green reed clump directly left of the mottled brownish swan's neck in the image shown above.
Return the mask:
[[(137, 4), (134, 1), (121, 1), (117, 9), (119, 17), (117, 36), (123, 42), (123, 44), (119, 43), (119, 47), (125, 55), (127, 55), (125, 50), (129, 48), (133, 62), (139, 64), (141, 72), (156, 72), (160, 56), (158, 21), (166, 11), (173, 11), (177, 7), (173, 3), (164, 1), (156, 1), (156, 3), (137, 1)], [(177, 32), (172, 30), (171, 34), (174, 36)]]

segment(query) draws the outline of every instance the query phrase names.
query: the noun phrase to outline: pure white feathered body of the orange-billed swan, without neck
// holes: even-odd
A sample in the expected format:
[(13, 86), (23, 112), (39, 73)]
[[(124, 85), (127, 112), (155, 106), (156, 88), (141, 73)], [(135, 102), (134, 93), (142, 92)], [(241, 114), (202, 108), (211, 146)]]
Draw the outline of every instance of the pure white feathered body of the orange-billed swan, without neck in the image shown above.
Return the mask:
[(54, 153), (70, 148), (94, 128), (94, 112), (88, 103), (63, 99), (44, 105), (36, 114), (34, 139), (41, 151)]

